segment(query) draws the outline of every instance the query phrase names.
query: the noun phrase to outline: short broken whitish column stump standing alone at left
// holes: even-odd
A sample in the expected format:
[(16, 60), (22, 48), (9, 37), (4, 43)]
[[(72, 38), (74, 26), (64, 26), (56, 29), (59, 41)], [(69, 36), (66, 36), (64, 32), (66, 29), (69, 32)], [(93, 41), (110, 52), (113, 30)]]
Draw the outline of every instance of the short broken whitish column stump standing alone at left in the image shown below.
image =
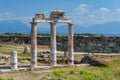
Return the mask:
[(18, 65), (17, 65), (18, 59), (17, 59), (17, 51), (11, 51), (11, 68), (16, 70), (18, 69)]

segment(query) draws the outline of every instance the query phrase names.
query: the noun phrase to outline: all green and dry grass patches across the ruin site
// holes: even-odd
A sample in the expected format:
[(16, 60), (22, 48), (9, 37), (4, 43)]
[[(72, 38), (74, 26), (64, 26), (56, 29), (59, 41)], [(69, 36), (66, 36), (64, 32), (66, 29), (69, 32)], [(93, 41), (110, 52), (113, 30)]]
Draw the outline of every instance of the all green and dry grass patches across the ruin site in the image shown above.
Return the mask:
[[(25, 56), (23, 54), (21, 55), (23, 50), (17, 49), (16, 47), (16, 45), (4, 45), (0, 48), (0, 52), (9, 54), (14, 48), (15, 50), (18, 50), (18, 55), (20, 54), (19, 56)], [(41, 47), (49, 48), (46, 46), (39, 46), (39, 48)], [(82, 57), (83, 55), (75, 54), (75, 59), (77, 60)], [(105, 67), (88, 66), (0, 73), (0, 80), (120, 80), (120, 56), (93, 56), (93, 58), (107, 61), (108, 64)], [(21, 60), (21, 63), (24, 64), (23, 60)]]

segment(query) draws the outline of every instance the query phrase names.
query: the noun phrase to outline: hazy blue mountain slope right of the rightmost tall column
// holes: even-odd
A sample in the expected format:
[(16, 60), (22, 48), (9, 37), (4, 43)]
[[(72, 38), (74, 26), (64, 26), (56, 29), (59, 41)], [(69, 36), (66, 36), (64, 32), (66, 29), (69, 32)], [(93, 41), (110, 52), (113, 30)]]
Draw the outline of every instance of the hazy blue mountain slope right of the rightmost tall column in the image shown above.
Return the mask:
[[(79, 29), (79, 30), (78, 30)], [(118, 34), (120, 33), (120, 22), (109, 22), (105, 24), (96, 24), (88, 27), (74, 27), (74, 31), (78, 33), (105, 33)]]

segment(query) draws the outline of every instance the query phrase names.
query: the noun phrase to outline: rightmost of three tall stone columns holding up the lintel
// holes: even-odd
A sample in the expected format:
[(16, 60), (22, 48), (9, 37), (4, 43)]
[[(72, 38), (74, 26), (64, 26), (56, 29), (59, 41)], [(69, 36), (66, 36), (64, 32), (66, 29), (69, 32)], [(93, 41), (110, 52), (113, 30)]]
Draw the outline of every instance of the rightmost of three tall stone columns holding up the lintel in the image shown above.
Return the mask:
[(73, 54), (73, 28), (72, 23), (68, 23), (68, 64), (74, 64), (74, 54)]

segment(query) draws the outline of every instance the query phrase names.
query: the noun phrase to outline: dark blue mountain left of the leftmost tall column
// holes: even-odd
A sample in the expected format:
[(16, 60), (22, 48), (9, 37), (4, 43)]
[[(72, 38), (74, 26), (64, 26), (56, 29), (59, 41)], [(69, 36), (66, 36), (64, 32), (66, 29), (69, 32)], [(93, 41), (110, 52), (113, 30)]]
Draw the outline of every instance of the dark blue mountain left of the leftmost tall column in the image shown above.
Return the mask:
[(30, 27), (20, 21), (0, 21), (0, 33), (30, 33)]

